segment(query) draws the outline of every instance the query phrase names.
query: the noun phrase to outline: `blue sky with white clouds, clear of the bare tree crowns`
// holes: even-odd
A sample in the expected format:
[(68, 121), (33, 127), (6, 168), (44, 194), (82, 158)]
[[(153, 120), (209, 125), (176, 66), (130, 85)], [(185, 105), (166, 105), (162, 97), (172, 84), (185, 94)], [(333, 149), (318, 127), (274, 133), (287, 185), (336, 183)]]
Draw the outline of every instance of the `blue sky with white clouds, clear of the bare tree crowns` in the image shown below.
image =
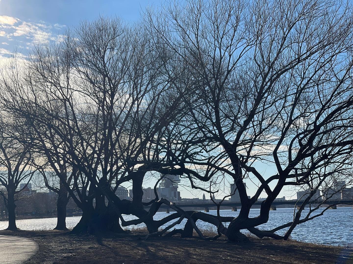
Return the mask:
[[(136, 21), (148, 5), (160, 6), (160, 0), (0, 0), (0, 62), (14, 49), (24, 55), (36, 42), (55, 40), (65, 28), (77, 25), (81, 20), (94, 20), (99, 15), (120, 16), (126, 21)], [(265, 175), (274, 173), (271, 166), (258, 164)], [(258, 181), (255, 181), (255, 183)], [(256, 191), (255, 184), (246, 180), (248, 194)], [(154, 182), (145, 187), (153, 187)], [(202, 197), (201, 191), (180, 188), (182, 197)], [(293, 190), (282, 191), (280, 197), (288, 198)], [(261, 195), (265, 196), (265, 195)], [(221, 198), (221, 197), (219, 197)]]

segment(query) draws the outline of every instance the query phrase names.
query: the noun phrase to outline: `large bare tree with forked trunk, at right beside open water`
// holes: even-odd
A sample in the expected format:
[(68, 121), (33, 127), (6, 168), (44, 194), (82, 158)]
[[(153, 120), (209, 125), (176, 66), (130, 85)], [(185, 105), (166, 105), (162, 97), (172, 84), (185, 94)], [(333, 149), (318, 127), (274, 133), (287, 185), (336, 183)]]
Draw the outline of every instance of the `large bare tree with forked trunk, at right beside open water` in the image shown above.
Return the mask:
[[(242, 229), (277, 237), (256, 226), (283, 188), (322, 184), (352, 166), (352, 7), (191, 0), (150, 10), (146, 20), (156, 45), (175, 54), (164, 61), (167, 74), (178, 74), (176, 62), (190, 69), (172, 82), (189, 108), (185, 144), (205, 149), (188, 162), (205, 176), (208, 167), (226, 170), (239, 191), (239, 216), (223, 232), (232, 241), (246, 239)], [(276, 174), (265, 177), (260, 162)], [(259, 182), (250, 198), (246, 177)], [(250, 218), (263, 191), (260, 215)]]

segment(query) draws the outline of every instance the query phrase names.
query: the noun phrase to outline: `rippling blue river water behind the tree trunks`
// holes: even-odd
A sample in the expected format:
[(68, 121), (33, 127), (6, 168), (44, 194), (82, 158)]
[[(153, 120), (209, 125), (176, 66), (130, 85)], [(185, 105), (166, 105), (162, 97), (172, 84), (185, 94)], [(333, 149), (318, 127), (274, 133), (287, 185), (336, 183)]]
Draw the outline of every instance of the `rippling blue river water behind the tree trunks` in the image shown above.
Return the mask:
[[(321, 210), (321, 209), (320, 209)], [(307, 210), (305, 210), (307, 211)], [(303, 211), (303, 214), (305, 213)], [(172, 213), (172, 212), (171, 212)], [(251, 209), (250, 217), (259, 215), (260, 209)], [(216, 210), (210, 210), (209, 214), (217, 215)], [(231, 210), (221, 210), (222, 216), (237, 216), (238, 212)], [(135, 219), (132, 215), (123, 215), (125, 220)], [(162, 219), (167, 216), (165, 212), (158, 212), (154, 216), (155, 220)], [(293, 219), (292, 208), (278, 208), (276, 211), (270, 211), (269, 221), (266, 224), (259, 226), (260, 229), (270, 230), (279, 225), (285, 224)], [(72, 229), (80, 220), (80, 216), (67, 217), (67, 228)], [(183, 228), (186, 219), (176, 228)], [(312, 243), (321, 243), (329, 245), (345, 245), (352, 243), (353, 240), (353, 209), (349, 207), (338, 207), (335, 209), (327, 210), (324, 215), (316, 219), (308, 221), (304, 224), (298, 225), (292, 232), (292, 238)], [(43, 218), (43, 219), (25, 219), (17, 220), (17, 227), (21, 230), (52, 230), (56, 225), (56, 218)], [(169, 223), (168, 223), (169, 224)], [(168, 224), (162, 226), (165, 227)], [(144, 224), (137, 226), (128, 226), (124, 229), (144, 227)], [(197, 221), (197, 226), (201, 229), (215, 229), (215, 226)], [(7, 221), (0, 222), (0, 230), (7, 227)], [(278, 234), (283, 234), (285, 230), (278, 231)]]

